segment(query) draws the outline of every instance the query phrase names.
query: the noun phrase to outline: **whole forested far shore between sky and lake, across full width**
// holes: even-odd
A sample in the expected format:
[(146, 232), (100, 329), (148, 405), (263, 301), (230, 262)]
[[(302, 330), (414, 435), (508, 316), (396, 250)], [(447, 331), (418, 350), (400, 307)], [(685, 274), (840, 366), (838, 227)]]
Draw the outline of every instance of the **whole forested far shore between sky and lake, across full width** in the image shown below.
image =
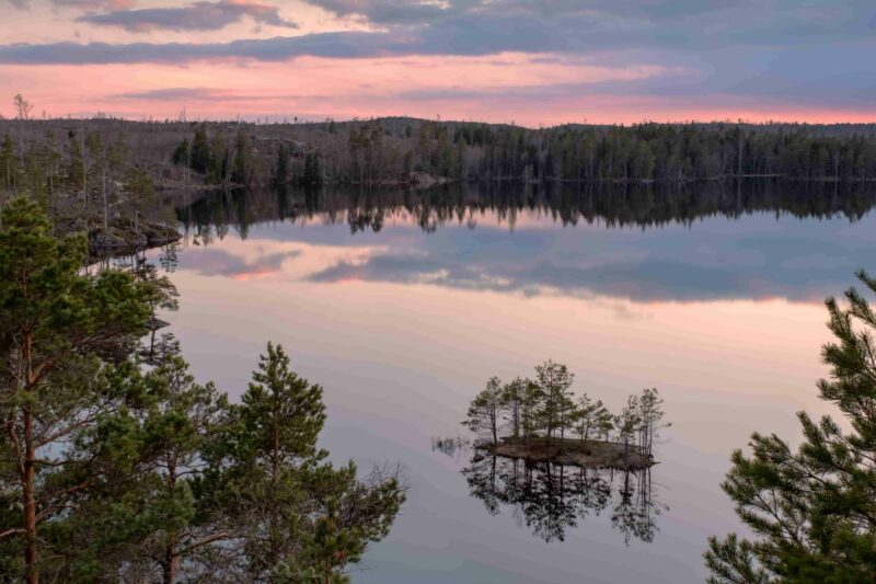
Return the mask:
[[(8, 191), (27, 187), (32, 193), (87, 192), (89, 182), (94, 183), (92, 188), (99, 186), (94, 174), (101, 171), (91, 171), (89, 179), (89, 167), (106, 156), (92, 149), (117, 145), (123, 135), (136, 142), (132, 167), (168, 187), (193, 182), (226, 188), (406, 184), (426, 175), (537, 184), (742, 176), (876, 179), (876, 130), (869, 125), (643, 123), (525, 128), (414, 118), (136, 123), (39, 121), (30, 118), (28, 108), (16, 108), (16, 119), (0, 122), (0, 184)], [(103, 144), (87, 145), (89, 135)], [(108, 160), (100, 164), (112, 165)]]

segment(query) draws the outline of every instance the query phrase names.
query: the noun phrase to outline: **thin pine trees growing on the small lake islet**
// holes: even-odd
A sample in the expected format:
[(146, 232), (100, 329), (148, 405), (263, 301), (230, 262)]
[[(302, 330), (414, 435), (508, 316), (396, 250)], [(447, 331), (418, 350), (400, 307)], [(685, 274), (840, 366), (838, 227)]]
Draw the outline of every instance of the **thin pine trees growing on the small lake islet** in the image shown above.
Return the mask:
[(469, 405), (463, 425), (493, 445), (500, 440), (564, 445), (566, 435), (574, 435), (585, 451), (588, 440), (612, 439), (624, 446), (625, 454), (652, 459), (655, 438), (666, 427), (658, 391), (647, 388), (641, 396), (630, 396), (612, 414), (602, 400), (587, 393), (576, 399), (574, 378), (565, 365), (553, 360), (538, 365), (531, 379), (503, 383), (492, 377)]

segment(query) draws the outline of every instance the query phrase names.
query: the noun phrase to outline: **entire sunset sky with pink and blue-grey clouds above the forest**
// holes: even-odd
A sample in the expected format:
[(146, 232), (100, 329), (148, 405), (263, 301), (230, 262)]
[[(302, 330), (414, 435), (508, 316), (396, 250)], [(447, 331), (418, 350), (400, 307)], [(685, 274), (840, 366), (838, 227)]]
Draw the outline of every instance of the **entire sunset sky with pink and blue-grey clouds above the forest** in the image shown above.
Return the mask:
[[(876, 121), (872, 0), (0, 0), (0, 114)], [(2, 94), (8, 100), (2, 100)]]

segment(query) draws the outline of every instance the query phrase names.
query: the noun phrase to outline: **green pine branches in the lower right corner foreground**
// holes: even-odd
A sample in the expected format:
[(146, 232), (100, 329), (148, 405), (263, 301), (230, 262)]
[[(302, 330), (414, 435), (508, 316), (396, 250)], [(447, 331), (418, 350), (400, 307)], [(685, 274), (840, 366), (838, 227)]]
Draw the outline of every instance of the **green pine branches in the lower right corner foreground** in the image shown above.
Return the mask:
[[(858, 278), (876, 293), (876, 280)], [(835, 341), (821, 353), (830, 379), (818, 383), (845, 424), (800, 412), (798, 448), (754, 434), (750, 456), (733, 454), (722, 486), (754, 537), (711, 538), (710, 582), (876, 580), (876, 314), (854, 288), (845, 297), (845, 308), (827, 301)]]

